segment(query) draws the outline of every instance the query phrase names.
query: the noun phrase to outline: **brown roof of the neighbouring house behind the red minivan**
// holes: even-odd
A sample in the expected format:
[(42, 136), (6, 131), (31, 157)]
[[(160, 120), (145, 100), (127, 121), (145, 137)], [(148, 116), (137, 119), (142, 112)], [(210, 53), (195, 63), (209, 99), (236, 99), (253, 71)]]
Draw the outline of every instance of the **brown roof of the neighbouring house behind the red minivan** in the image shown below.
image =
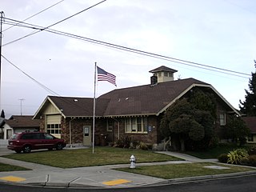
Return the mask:
[(5, 121), (12, 128), (39, 128), (40, 126), (40, 121), (33, 119), (33, 115), (12, 115)]

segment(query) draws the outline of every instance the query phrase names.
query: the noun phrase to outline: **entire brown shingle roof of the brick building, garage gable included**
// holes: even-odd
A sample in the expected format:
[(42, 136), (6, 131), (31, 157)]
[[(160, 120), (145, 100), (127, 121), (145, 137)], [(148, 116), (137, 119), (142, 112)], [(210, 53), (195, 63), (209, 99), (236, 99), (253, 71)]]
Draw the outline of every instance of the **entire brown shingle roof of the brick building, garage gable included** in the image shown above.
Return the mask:
[[(210, 88), (229, 110), (238, 114), (237, 110), (210, 84), (194, 78), (186, 78), (159, 82), (155, 86), (148, 84), (112, 90), (96, 99), (96, 117), (159, 115), (194, 86)], [(48, 96), (34, 118), (39, 118), (47, 103), (51, 103), (64, 117), (93, 117), (93, 98)]]

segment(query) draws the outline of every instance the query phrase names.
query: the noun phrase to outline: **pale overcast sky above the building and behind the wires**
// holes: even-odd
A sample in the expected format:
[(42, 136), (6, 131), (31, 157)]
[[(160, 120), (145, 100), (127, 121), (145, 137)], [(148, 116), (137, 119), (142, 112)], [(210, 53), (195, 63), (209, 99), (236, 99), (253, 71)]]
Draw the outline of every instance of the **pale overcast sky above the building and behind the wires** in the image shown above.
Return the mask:
[[(50, 26), (100, 2), (96, 0), (1, 0), (6, 18)], [(244, 74), (255, 71), (254, 0), (107, 0), (50, 29), (94, 38), (171, 58)], [(6, 20), (7, 21), (7, 20)], [(98, 82), (96, 96), (110, 90), (150, 83), (150, 70), (168, 66), (177, 78), (210, 83), (231, 105), (244, 100), (250, 75), (222, 74), (146, 57), (46, 31), (17, 42), (34, 30), (4, 23), (2, 55), (61, 96), (94, 97), (94, 62), (117, 76), (117, 87)], [(6, 117), (34, 114), (53, 95), (2, 58), (1, 109)], [(21, 100), (22, 111), (21, 111)]]

